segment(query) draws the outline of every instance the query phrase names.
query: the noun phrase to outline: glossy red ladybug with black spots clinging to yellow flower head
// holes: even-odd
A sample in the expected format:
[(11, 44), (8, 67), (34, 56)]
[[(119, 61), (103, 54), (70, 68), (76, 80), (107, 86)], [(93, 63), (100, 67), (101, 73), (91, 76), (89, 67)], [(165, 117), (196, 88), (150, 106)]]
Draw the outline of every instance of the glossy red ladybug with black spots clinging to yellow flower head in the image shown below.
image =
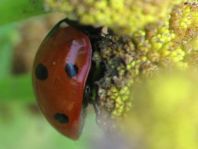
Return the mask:
[(74, 140), (81, 134), (90, 98), (93, 49), (89, 35), (97, 32), (64, 19), (45, 37), (33, 64), (33, 87), (41, 112), (53, 127)]

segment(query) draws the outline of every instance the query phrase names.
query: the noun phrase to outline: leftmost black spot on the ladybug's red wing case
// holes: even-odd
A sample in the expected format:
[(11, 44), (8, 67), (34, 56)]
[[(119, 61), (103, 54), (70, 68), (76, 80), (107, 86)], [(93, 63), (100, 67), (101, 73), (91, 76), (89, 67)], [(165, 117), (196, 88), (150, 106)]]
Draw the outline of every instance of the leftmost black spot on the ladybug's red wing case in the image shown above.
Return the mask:
[(43, 64), (38, 64), (36, 66), (35, 75), (39, 80), (46, 80), (48, 78), (48, 70)]

